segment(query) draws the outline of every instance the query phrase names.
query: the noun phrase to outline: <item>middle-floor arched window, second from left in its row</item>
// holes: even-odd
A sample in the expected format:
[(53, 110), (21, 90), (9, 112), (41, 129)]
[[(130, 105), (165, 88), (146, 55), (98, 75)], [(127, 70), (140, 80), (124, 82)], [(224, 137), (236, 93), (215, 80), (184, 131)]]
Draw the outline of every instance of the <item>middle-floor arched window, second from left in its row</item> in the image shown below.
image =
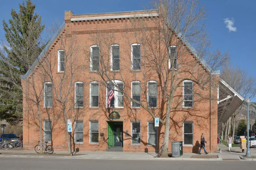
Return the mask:
[(75, 107), (84, 107), (84, 83), (75, 82)]

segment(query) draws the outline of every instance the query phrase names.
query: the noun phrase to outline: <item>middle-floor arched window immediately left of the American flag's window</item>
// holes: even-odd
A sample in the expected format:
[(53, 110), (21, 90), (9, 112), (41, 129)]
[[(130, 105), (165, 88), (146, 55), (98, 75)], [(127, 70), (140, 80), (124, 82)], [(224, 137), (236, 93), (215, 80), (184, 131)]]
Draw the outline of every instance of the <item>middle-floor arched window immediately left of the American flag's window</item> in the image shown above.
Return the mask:
[(99, 83), (97, 81), (90, 83), (90, 107), (99, 107)]

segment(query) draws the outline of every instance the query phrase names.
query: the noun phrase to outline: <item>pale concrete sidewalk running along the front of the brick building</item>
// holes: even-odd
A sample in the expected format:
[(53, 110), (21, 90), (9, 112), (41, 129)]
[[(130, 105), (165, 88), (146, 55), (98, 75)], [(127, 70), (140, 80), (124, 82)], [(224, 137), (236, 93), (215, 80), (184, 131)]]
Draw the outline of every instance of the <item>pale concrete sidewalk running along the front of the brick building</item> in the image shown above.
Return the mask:
[[(205, 155), (202, 153), (183, 153), (182, 156), (174, 158), (156, 158), (156, 153), (144, 152), (84, 152), (80, 151), (74, 153), (74, 156), (69, 156), (67, 151), (54, 151), (54, 154), (36, 154), (33, 151), (27, 150), (0, 150), (0, 157), (37, 157), (37, 158), (69, 158), (69, 159), (115, 159), (115, 160), (205, 160), (205, 161), (220, 161), (220, 160), (250, 160), (256, 159), (243, 159), (245, 153), (239, 147), (233, 147), (231, 153), (228, 152), (228, 147), (223, 144), (218, 144), (221, 148), (221, 153), (209, 153)], [(252, 150), (252, 156), (256, 156), (256, 152)]]

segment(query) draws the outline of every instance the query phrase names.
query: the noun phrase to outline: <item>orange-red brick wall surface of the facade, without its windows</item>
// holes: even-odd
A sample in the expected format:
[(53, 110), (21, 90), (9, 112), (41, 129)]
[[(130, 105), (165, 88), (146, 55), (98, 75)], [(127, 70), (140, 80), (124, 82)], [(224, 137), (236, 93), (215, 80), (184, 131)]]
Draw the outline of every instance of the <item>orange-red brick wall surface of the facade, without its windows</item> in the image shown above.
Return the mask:
[[(89, 94), (90, 94), (90, 82), (91, 81), (101, 81), (99, 75), (94, 74), (90, 71), (90, 63), (84, 56), (84, 51), (89, 50), (90, 46), (95, 45), (92, 40), (92, 34), (97, 31), (102, 33), (113, 33), (115, 36), (115, 44), (120, 45), (120, 56), (124, 59), (120, 59), (120, 71), (116, 72), (116, 80), (123, 80), (125, 84), (125, 90), (131, 91), (131, 82), (134, 81), (133, 73), (131, 72), (131, 63), (127, 62), (131, 60), (131, 49), (129, 44), (138, 43), (135, 37), (133, 37), (133, 32), (127, 33), (127, 27), (131, 28), (131, 22), (129, 18), (118, 18), (118, 19), (96, 19), (96, 20), (80, 20), (72, 21), (70, 18), (91, 18), (91, 17), (104, 17), (104, 16), (123, 16), (123, 15), (134, 15), (134, 14), (148, 14), (157, 13), (157, 11), (141, 11), (141, 12), (124, 12), (124, 13), (110, 13), (110, 14), (92, 14), (92, 15), (73, 15), (71, 11), (65, 11), (65, 27), (61, 31), (58, 37), (70, 37), (76, 35), (78, 51), (76, 51), (79, 56), (79, 61), (82, 63), (88, 63), (86, 67), (78, 71), (78, 74), (73, 79), (73, 82), (82, 81), (84, 83), (84, 107), (79, 109), (72, 109), (68, 115), (68, 118), (72, 120), (73, 131), (72, 138), (74, 139), (74, 121), (83, 121), (83, 143), (72, 144), (73, 149), (79, 148), (80, 151), (105, 151), (108, 148), (108, 121), (120, 121), (123, 123), (123, 151), (125, 152), (155, 152), (156, 146), (148, 145), (148, 121), (154, 121), (151, 115), (148, 114), (146, 110), (141, 108), (131, 108), (131, 102), (124, 97), (124, 108), (113, 108), (106, 109), (106, 87), (99, 86), (99, 108), (90, 108), (89, 104)], [(148, 22), (154, 28), (152, 21), (153, 17), (145, 17), (145, 22)], [(154, 17), (158, 19), (158, 17)], [(153, 19), (153, 20), (154, 20)], [(157, 31), (157, 29), (156, 29)], [(129, 36), (129, 42), (124, 37)], [(47, 54), (52, 56), (54, 60), (57, 59), (58, 50), (61, 49), (60, 41), (58, 38), (50, 46)], [(65, 49), (67, 50), (67, 49)], [(141, 50), (141, 55), (143, 50)], [(125, 60), (126, 59), (126, 60)], [(193, 62), (193, 58), (190, 54), (184, 54), (183, 62)], [(182, 61), (180, 61), (182, 63)], [(200, 67), (200, 63), (198, 63)], [(37, 67), (36, 69), (41, 69)], [(53, 75), (58, 77), (61, 73), (58, 73), (57, 64), (53, 68)], [(137, 73), (137, 80), (140, 80), (141, 86), (144, 86), (143, 76)], [(186, 74), (179, 75), (180, 77), (186, 76)], [(219, 81), (219, 75), (215, 75), (213, 79), (214, 82)], [(22, 85), (25, 91), (30, 91), (31, 86), (27, 84), (29, 81), (29, 76), (27, 79), (22, 79)], [(42, 77), (36, 76), (35, 82), (38, 84), (36, 88), (38, 91), (42, 89)], [(158, 75), (154, 72), (147, 77), (147, 81), (154, 80), (159, 84)], [(47, 80), (50, 81), (50, 80)], [(39, 83), (40, 82), (40, 83)], [(213, 84), (216, 84), (214, 83)], [(73, 83), (73, 84), (74, 84)], [(194, 89), (198, 93), (208, 96), (209, 98), (217, 99), (217, 88), (212, 86), (211, 89), (200, 89), (194, 84)], [(143, 92), (141, 92), (142, 94)], [(173, 103), (176, 101), (181, 101), (182, 99), (182, 87), (178, 88)], [(129, 93), (128, 93), (129, 94)], [(33, 93), (30, 92), (33, 96)], [(42, 97), (42, 96), (41, 96)], [(63, 116), (61, 115), (61, 105), (55, 101), (53, 95), (52, 109), (45, 109), (44, 102), (41, 102), (41, 114), (42, 120), (52, 120), (52, 145), (54, 150), (67, 150), (66, 134), (65, 134), (65, 123)], [(194, 108), (193, 109), (180, 109), (171, 111), (171, 126), (169, 135), (169, 151), (171, 151), (172, 141), (183, 141), (183, 122), (193, 122), (193, 145), (183, 146), (183, 152), (196, 152), (198, 151), (198, 145), (200, 144), (200, 136), (204, 132), (205, 139), (208, 142), (206, 144), (206, 150), (208, 152), (217, 152), (217, 116), (218, 107), (217, 100), (210, 99), (199, 99), (198, 96), (194, 96)], [(36, 113), (36, 106), (33, 105), (28, 99), (23, 100), (23, 145), (24, 149), (32, 150), (36, 145), (36, 141), (39, 140), (39, 130), (38, 130), (38, 118)], [(166, 104), (161, 102), (161, 88), (157, 87), (157, 109), (156, 112), (159, 113), (162, 108), (165, 113)], [(74, 103), (74, 90), (69, 96), (69, 105)], [(141, 95), (141, 101), (145, 101)], [(173, 104), (173, 105), (174, 105)], [(181, 107), (182, 108), (182, 107)], [(120, 119), (109, 119), (108, 114), (111, 111), (117, 111), (120, 114)], [(99, 121), (99, 143), (90, 144), (90, 121)], [(140, 145), (131, 144), (131, 122), (140, 122)], [(44, 127), (44, 123), (42, 123)], [(125, 132), (128, 131), (128, 136), (125, 136)], [(158, 142), (163, 142), (164, 139), (164, 125), (160, 124), (157, 129)], [(100, 136), (103, 133), (103, 136)], [(43, 134), (44, 136), (44, 134)], [(44, 138), (44, 137), (43, 137)], [(103, 140), (103, 138), (105, 140)], [(73, 140), (72, 139), (72, 140)], [(158, 148), (158, 146), (157, 146)]]

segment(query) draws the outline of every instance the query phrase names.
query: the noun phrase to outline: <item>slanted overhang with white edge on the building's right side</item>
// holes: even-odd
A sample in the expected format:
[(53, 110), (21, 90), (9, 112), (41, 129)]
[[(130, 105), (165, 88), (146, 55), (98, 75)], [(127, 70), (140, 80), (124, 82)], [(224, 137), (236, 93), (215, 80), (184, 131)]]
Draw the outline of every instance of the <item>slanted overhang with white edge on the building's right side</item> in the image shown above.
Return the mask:
[(243, 103), (244, 97), (220, 77), (218, 87), (218, 122), (227, 122), (228, 118)]

